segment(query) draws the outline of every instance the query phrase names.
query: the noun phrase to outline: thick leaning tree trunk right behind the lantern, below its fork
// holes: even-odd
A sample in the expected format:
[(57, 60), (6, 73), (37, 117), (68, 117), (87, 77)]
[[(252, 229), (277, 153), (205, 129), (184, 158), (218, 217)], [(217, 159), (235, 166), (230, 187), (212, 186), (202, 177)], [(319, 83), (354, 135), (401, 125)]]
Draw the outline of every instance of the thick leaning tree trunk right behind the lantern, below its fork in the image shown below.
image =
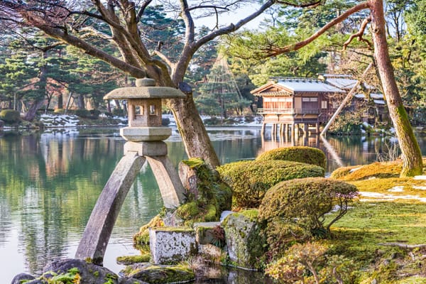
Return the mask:
[(169, 106), (175, 116), (188, 158), (202, 158), (211, 168), (220, 165), (200, 114), (195, 107), (192, 92), (187, 92), (186, 99), (170, 99)]

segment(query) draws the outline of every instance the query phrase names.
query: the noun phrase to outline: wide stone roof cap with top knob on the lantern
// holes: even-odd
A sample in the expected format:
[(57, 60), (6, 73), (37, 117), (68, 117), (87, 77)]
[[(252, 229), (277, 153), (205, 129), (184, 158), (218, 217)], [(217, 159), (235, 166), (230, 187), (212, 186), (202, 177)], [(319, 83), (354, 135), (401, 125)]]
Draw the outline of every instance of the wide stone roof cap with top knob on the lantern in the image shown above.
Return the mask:
[(179, 99), (186, 95), (172, 87), (155, 87), (155, 80), (143, 78), (136, 80), (136, 87), (113, 89), (104, 99)]

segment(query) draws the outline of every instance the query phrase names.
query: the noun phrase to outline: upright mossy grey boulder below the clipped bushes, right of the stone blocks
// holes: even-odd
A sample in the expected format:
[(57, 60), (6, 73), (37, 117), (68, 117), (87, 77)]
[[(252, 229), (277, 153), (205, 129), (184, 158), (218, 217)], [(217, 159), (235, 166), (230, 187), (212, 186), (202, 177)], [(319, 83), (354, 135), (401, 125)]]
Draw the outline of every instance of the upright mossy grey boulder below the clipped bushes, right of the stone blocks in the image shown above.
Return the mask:
[(225, 231), (231, 265), (249, 269), (261, 269), (259, 258), (265, 253), (266, 238), (261, 234), (257, 209), (233, 214), (222, 222)]

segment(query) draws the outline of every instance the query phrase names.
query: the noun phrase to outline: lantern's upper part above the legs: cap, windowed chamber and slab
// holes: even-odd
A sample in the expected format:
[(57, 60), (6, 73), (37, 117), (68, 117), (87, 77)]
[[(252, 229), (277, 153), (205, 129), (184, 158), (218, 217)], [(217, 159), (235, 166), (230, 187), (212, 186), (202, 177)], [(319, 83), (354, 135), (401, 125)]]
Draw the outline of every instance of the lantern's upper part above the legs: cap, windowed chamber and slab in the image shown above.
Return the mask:
[(109, 92), (104, 99), (126, 99), (129, 126), (120, 129), (127, 141), (163, 141), (171, 135), (169, 127), (161, 126), (161, 99), (184, 98), (185, 94), (171, 87), (155, 87), (155, 80), (136, 80), (136, 87)]

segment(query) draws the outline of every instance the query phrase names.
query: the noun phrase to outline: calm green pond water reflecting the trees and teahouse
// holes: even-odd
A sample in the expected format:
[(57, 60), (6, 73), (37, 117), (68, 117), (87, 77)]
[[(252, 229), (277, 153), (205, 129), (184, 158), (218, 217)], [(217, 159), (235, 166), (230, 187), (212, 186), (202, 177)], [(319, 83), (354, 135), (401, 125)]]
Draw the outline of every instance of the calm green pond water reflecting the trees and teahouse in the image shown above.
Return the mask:
[[(260, 129), (209, 129), (222, 163), (254, 158), (279, 146), (322, 148), (328, 171), (339, 165), (377, 160), (387, 149), (386, 138), (344, 137), (322, 141), (312, 136), (292, 141), (261, 138)], [(419, 138), (423, 154), (426, 139)], [(185, 159), (180, 136), (174, 131), (166, 143), (177, 166)], [(40, 273), (53, 258), (74, 256), (90, 212), (116, 163), (124, 140), (118, 129), (0, 132), (0, 279)], [(104, 266), (118, 272), (117, 256), (137, 254), (131, 238), (162, 207), (160, 192), (147, 165), (143, 166), (116, 222)]]

